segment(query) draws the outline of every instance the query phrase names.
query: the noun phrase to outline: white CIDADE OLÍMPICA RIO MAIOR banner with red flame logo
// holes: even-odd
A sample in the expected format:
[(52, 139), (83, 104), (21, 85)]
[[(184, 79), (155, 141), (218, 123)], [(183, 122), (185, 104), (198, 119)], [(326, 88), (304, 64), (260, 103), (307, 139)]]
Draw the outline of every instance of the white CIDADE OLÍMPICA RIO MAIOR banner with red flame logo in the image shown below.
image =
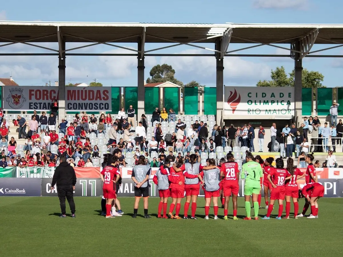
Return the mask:
[(294, 87), (224, 87), (224, 115), (292, 118)]

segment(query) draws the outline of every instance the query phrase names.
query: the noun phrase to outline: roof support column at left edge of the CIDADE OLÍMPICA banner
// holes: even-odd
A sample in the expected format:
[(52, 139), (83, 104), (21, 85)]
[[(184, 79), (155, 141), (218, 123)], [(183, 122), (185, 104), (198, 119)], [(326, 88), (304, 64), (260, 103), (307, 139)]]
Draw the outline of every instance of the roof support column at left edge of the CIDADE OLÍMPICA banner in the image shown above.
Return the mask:
[[(215, 50), (221, 51), (221, 41), (218, 40), (215, 44)], [(224, 110), (224, 59), (220, 58), (220, 52), (216, 53), (216, 95), (217, 95), (217, 115), (216, 122), (218, 125), (223, 124), (222, 112)]]

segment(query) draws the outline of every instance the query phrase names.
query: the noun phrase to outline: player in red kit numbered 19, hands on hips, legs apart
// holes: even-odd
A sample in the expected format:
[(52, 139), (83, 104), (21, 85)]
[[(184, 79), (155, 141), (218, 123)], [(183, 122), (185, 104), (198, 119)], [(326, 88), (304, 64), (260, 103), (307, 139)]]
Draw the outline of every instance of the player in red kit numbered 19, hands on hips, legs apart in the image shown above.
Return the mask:
[[(273, 186), (273, 191), (270, 196), (270, 204), (268, 206), (267, 215), (262, 219), (269, 220), (270, 214), (272, 213), (275, 200), (279, 200), (279, 215), (275, 219), (281, 220), (282, 211), (283, 211), (283, 200), (285, 199), (285, 180), (291, 179), (292, 176), (287, 177), (287, 169), (284, 169), (284, 163), (282, 158), (276, 159), (276, 168), (268, 174), (268, 180)], [(271, 176), (274, 176), (274, 180), (271, 180)]]

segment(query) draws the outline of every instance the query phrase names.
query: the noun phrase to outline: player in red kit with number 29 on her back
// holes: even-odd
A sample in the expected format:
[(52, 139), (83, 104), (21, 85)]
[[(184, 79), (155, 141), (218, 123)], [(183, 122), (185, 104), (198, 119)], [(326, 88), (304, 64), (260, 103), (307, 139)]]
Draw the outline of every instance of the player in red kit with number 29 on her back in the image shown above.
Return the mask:
[(112, 202), (116, 198), (116, 183), (120, 178), (120, 172), (115, 167), (118, 162), (116, 156), (111, 157), (111, 165), (106, 166), (100, 172), (100, 178), (104, 182), (103, 185), (103, 194), (106, 198), (106, 218), (115, 218), (114, 215), (111, 215)]

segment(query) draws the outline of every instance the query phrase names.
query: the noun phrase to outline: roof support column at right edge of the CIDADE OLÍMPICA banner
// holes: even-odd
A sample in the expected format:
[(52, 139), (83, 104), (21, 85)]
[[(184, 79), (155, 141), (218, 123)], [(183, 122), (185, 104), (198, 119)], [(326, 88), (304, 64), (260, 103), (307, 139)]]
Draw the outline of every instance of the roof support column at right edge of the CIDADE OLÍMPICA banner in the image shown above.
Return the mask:
[[(295, 43), (295, 48), (296, 50), (301, 50), (301, 42), (297, 41)], [(301, 54), (298, 52), (295, 52), (295, 58), (294, 58), (294, 71), (295, 71), (295, 75), (294, 75), (294, 102), (295, 102), (295, 124), (297, 127), (300, 126), (300, 124), (302, 123), (302, 72), (303, 72), (303, 62), (301, 59)], [(310, 96), (309, 96), (310, 97)]]

